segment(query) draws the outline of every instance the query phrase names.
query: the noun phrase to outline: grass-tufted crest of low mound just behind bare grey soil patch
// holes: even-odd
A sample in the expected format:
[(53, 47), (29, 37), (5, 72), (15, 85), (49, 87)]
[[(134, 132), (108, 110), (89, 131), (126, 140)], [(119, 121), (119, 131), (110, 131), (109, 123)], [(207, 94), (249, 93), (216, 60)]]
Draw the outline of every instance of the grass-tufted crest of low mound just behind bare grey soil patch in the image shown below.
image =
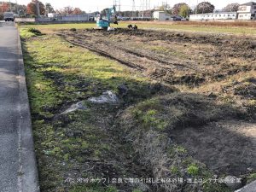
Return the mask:
[[(200, 127), (220, 119), (238, 118), (243, 114), (239, 109), (216, 104), (216, 101), (207, 96), (175, 92), (139, 103), (136, 108), (128, 110), (127, 117), (131, 119), (128, 118), (125, 121), (129, 122), (129, 125), (132, 125), (131, 122), (145, 123), (145, 119), (140, 115), (150, 110), (156, 112), (153, 115), (156, 119), (165, 122), (165, 126), (161, 127), (161, 130), (171, 132), (188, 126)], [(125, 117), (126, 115), (125, 113)], [(148, 125), (145, 127), (150, 129)]]

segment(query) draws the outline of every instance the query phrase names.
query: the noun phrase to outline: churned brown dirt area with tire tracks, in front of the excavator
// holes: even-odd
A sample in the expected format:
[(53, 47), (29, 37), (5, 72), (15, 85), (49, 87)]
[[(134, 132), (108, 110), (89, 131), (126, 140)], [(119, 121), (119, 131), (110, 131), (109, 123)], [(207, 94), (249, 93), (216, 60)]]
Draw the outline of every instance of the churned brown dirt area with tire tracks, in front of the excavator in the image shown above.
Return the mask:
[(62, 32), (72, 44), (135, 68), (167, 84), (199, 84), (227, 79), (255, 67), (251, 39), (186, 33), (81, 30)]

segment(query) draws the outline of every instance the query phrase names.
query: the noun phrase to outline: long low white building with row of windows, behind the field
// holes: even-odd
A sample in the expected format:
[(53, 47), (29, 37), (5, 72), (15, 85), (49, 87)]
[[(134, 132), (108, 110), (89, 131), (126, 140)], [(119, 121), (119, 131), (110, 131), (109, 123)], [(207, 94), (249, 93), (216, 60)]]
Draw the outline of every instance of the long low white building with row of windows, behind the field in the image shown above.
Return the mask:
[(216, 12), (208, 14), (189, 15), (189, 20), (236, 20), (236, 12)]

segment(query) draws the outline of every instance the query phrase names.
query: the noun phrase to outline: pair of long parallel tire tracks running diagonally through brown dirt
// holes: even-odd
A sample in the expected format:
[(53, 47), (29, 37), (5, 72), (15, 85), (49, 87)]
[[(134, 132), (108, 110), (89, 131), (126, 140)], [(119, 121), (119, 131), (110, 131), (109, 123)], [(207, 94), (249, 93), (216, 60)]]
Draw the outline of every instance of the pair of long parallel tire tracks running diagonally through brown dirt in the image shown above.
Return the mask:
[[(77, 39), (85, 40), (86, 38), (74, 36), (73, 34), (70, 34), (70, 33), (64, 33), (64, 34), (61, 33), (61, 34), (59, 34), (59, 36), (64, 38), (70, 44), (74, 44), (76, 46), (80, 46), (85, 49), (89, 49), (90, 51), (93, 51), (98, 55), (105, 56), (114, 61), (119, 61), (119, 63), (121, 63), (127, 67), (131, 67), (132, 69), (136, 69), (139, 72), (145, 73), (145, 75), (151, 79), (154, 79), (157, 81), (162, 81), (167, 84), (175, 84), (176, 81), (173, 82), (173, 79), (170, 78), (170, 77), (172, 77), (172, 75), (170, 76), (170, 74), (173, 74), (175, 71), (180, 71), (180, 72), (187, 71), (187, 72), (191, 73), (191, 70), (193, 70), (195, 72), (195, 69), (183, 66), (182, 64), (176, 65), (176, 64), (173, 64), (173, 63), (170, 63), (167, 61), (166, 62), (161, 61), (160, 59), (156, 59), (155, 57), (135, 53), (134, 51), (131, 51), (129, 49), (120, 48), (119, 46), (115, 46), (112, 44), (109, 45), (109, 44), (103, 43), (103, 46), (106, 46), (106, 49), (107, 48), (110, 49), (110, 47), (115, 47), (116, 49), (121, 50), (121, 54), (123, 54), (123, 55), (114, 56), (113, 54), (102, 50), (102, 49), (104, 49), (104, 47), (102, 49), (98, 49), (95, 46), (93, 46), (90, 42), (77, 40)], [(96, 42), (96, 44), (102, 44), (102, 42)], [(99, 47), (100, 45), (97, 45), (97, 46)], [(121, 59), (122, 57), (124, 57), (124, 55), (125, 55), (125, 57), (127, 57), (129, 59), (133, 58), (132, 59), (133, 61), (137, 61), (137, 62), (141, 61), (141, 62), (140, 62), (140, 64), (136, 64), (133, 61), (126, 61), (124, 59)], [(146, 66), (148, 65), (148, 63), (150, 63), (150, 65), (149, 65), (149, 67), (148, 66), (144, 67), (142, 63), (143, 64), (146, 63)], [(167, 63), (167, 64), (164, 64), (164, 63)], [(169, 76), (170, 76), (169, 78), (166, 77), (167, 74), (169, 74)]]

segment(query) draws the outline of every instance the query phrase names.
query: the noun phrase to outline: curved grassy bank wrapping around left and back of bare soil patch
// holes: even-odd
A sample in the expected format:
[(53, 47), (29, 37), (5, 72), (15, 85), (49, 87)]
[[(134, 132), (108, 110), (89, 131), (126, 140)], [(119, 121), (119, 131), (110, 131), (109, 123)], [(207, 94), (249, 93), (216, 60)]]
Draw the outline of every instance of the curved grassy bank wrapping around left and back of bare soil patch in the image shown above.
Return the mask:
[[(189, 177), (190, 173), (186, 167), (188, 165), (183, 163), (188, 160), (189, 155), (183, 154), (183, 149), (177, 150), (176, 143), (189, 148), (189, 144), (185, 145), (182, 142), (190, 141), (189, 138), (186, 139), (185, 137), (193, 137), (195, 141), (203, 140), (203, 137), (197, 138), (194, 135), (185, 135), (183, 132), (186, 133), (189, 130), (188, 127), (195, 127), (196, 131), (204, 132), (205, 127), (210, 122), (228, 118), (234, 119), (237, 118), (239, 113), (241, 112), (238, 109), (217, 104), (206, 96), (172, 93), (167, 96), (154, 97), (146, 102), (137, 104), (136, 107), (126, 109), (124, 113), (119, 115), (118, 121), (119, 127), (123, 132), (122, 137), (133, 146), (134, 158), (140, 165), (146, 166), (148, 170), (151, 170), (153, 177), (176, 177), (176, 174), (182, 177)], [(207, 130), (206, 135), (207, 137), (212, 137), (212, 133), (208, 134)], [(224, 137), (219, 137), (218, 139), (225, 140)], [(193, 145), (193, 147), (195, 146)], [(200, 144), (196, 145), (196, 147), (198, 151), (195, 154), (207, 153), (207, 151), (201, 152)], [(242, 147), (242, 149), (245, 148), (245, 146)], [(216, 146), (212, 146), (212, 148), (216, 151), (219, 150)], [(231, 152), (232, 148), (227, 147), (228, 149), (229, 151), (225, 153)], [(195, 160), (201, 160), (195, 154), (192, 154)], [(207, 155), (205, 156), (207, 157)], [(223, 162), (227, 157), (218, 156), (218, 158), (219, 162)], [(221, 158), (224, 159), (222, 160)], [(242, 160), (241, 156), (239, 160)], [(201, 165), (199, 161), (195, 162), (203, 169), (204, 165)], [(207, 163), (207, 160), (202, 160), (202, 162)], [(209, 167), (216, 166), (215, 162), (208, 162), (211, 163)], [(172, 169), (170, 170), (170, 167), (173, 166), (177, 167), (178, 173), (173, 173)], [(212, 170), (214, 169), (212, 168)], [(179, 187), (178, 184), (174, 183), (172, 185), (160, 184), (160, 188), (164, 191), (176, 191)], [(185, 191), (193, 190), (188, 188)]]

